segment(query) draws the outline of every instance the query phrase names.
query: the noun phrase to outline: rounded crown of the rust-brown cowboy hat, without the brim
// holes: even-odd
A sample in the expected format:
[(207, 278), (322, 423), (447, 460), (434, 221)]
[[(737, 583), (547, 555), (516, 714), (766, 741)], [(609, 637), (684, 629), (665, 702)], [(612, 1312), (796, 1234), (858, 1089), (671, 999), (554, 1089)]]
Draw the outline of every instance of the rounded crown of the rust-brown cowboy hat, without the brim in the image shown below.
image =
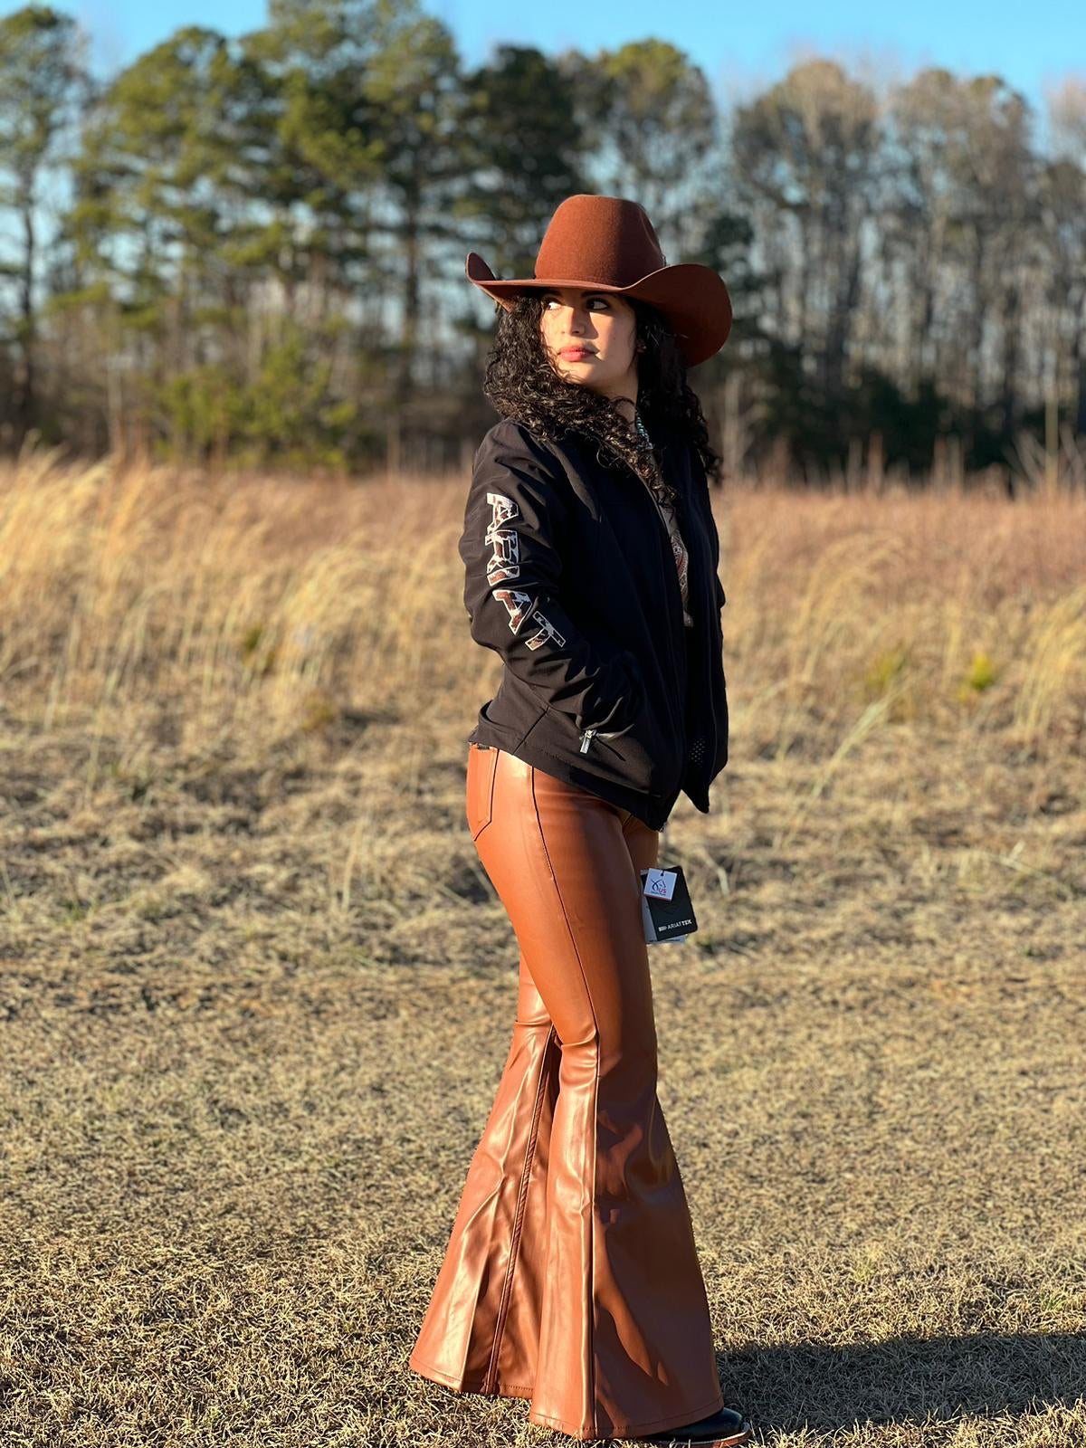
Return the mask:
[(620, 195), (569, 195), (547, 223), (536, 277), (631, 287), (666, 266), (644, 207)]

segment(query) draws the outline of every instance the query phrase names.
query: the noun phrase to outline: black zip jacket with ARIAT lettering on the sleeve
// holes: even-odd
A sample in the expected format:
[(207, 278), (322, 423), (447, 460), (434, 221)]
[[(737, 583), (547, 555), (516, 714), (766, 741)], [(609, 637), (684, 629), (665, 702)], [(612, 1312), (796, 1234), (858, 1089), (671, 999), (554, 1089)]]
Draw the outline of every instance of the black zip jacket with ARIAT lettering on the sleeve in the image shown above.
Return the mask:
[(692, 627), (649, 489), (626, 465), (601, 463), (585, 434), (555, 442), (497, 421), (475, 453), (458, 546), (472, 639), (504, 662), (469, 741), (659, 830), (681, 792), (708, 812), (728, 705), (705, 469), (681, 434), (653, 442), (679, 492)]

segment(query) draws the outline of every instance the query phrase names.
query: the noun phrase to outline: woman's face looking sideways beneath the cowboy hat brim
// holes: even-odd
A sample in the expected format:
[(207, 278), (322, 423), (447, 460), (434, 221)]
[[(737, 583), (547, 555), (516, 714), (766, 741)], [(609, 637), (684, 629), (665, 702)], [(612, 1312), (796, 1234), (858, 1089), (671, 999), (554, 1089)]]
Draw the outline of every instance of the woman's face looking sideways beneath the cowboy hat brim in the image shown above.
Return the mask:
[(557, 287), (542, 294), (539, 330), (550, 365), (569, 382), (637, 400), (634, 310), (608, 291)]

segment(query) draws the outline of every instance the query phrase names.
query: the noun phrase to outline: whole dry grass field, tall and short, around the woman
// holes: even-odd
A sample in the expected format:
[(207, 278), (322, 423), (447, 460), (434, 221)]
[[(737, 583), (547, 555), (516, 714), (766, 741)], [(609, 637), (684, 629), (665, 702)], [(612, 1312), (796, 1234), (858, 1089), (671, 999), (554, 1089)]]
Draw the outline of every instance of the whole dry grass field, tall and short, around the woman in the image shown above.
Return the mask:
[[(515, 941), (465, 481), (0, 471), (0, 1445), (568, 1442), (407, 1368)], [(1086, 1444), (1086, 497), (717, 500), (660, 1100), (775, 1448)]]

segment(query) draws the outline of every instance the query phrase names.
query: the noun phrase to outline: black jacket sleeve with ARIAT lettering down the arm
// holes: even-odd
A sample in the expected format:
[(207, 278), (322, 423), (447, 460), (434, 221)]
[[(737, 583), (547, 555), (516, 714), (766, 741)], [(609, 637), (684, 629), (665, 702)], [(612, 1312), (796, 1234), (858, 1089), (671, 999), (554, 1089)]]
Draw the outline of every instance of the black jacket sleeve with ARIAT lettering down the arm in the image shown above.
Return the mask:
[(546, 452), (500, 424), (475, 453), (458, 544), (472, 639), (578, 730), (626, 728), (644, 694), (628, 650), (589, 639), (562, 599), (569, 484)]

